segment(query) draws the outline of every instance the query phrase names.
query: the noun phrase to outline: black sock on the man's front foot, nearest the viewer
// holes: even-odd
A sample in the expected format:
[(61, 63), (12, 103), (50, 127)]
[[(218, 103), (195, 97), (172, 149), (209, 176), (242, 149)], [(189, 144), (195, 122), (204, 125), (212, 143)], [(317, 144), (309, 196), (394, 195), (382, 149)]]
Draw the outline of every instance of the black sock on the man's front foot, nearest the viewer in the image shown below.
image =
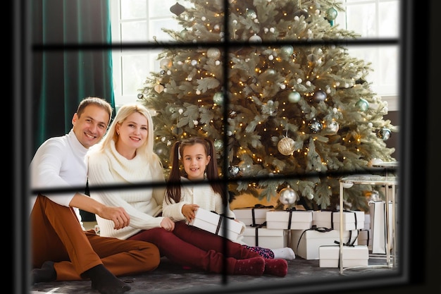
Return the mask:
[(101, 294), (122, 294), (131, 289), (128, 284), (108, 271), (103, 264), (92, 267), (84, 274), (92, 281), (92, 288), (98, 290)]

